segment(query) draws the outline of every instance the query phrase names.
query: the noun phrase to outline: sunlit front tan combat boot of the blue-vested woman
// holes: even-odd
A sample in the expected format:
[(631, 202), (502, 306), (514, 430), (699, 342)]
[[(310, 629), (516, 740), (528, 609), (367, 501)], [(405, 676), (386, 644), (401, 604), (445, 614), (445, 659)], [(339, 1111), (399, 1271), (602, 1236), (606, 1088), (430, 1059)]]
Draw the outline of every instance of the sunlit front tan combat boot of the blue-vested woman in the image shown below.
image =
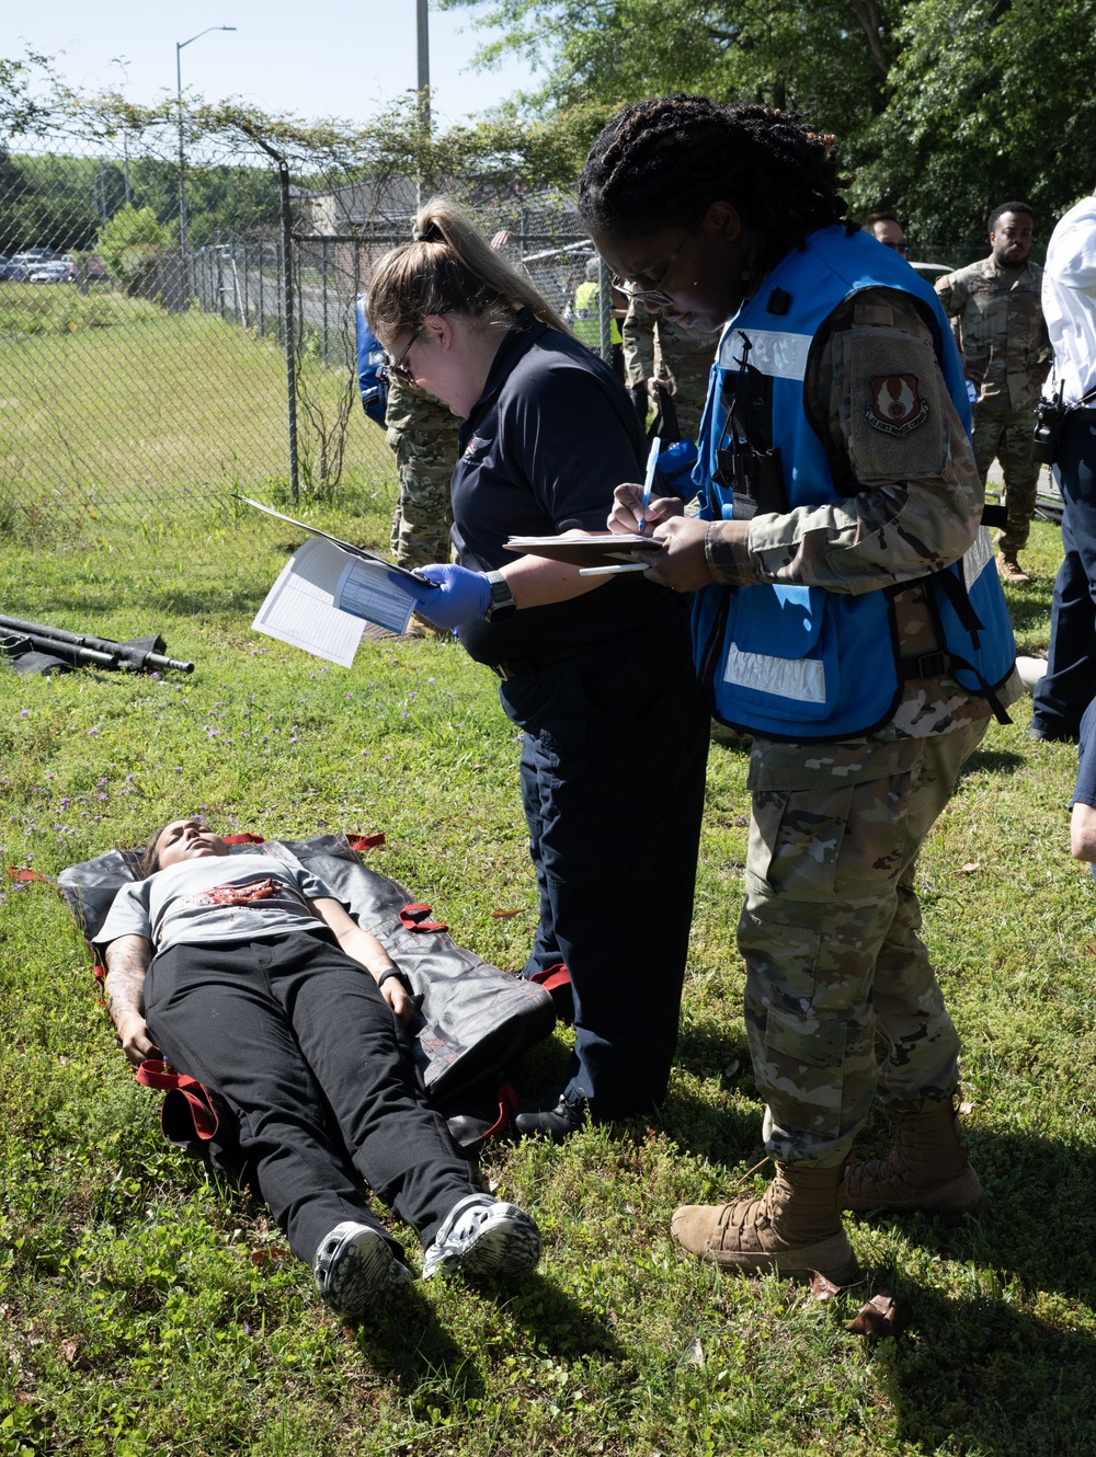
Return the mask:
[(777, 1164), (761, 1199), (688, 1203), (670, 1220), (670, 1233), (692, 1254), (726, 1271), (802, 1276), (819, 1271), (850, 1285), (860, 1269), (841, 1225), (842, 1170)]

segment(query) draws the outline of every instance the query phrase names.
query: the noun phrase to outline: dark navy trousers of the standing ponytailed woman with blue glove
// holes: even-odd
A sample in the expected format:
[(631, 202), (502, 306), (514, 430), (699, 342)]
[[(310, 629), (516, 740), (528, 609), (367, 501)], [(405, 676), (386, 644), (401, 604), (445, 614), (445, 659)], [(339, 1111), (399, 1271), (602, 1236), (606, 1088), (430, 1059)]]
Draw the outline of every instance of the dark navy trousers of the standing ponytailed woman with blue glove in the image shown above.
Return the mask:
[[(668, 673), (668, 663), (678, 670)], [(564, 1093), (596, 1118), (662, 1101), (678, 1040), (708, 714), (670, 612), (509, 679), (525, 730), (522, 800), (541, 922), (525, 969), (571, 973), (574, 1055)]]

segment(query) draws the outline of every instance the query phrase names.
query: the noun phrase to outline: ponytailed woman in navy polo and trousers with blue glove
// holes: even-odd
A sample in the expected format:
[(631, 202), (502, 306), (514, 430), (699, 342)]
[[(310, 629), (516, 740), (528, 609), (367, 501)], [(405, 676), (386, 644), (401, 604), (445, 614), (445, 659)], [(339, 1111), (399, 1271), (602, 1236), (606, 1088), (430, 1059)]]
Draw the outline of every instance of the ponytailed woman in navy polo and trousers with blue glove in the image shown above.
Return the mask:
[(707, 752), (688, 612), (641, 573), (580, 577), (507, 549), (509, 536), (605, 530), (644, 441), (624, 386), (468, 219), (423, 208), (414, 242), (373, 271), (369, 315), (391, 372), (463, 418), (459, 565), (424, 568), (437, 587), (418, 610), (494, 669), (523, 730), (541, 902), (525, 973), (570, 972), (576, 1046), (563, 1088), (516, 1126), (558, 1139), (587, 1113), (647, 1113), (666, 1093)]

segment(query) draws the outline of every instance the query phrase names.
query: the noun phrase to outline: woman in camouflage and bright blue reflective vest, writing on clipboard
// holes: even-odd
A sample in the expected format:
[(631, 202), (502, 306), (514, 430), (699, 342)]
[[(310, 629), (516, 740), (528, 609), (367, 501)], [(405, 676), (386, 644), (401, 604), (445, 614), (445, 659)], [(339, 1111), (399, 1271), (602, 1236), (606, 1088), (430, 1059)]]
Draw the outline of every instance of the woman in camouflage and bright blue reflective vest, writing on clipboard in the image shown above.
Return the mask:
[[(694, 593), (713, 712), (754, 736), (739, 949), (762, 1199), (689, 1205), (678, 1240), (735, 1271), (851, 1279), (842, 1209), (971, 1211), (958, 1039), (918, 935), (918, 849), (991, 711), (1019, 692), (947, 321), (844, 223), (834, 138), (761, 106), (640, 102), (579, 208), (618, 287), (724, 326), (694, 481), (647, 511), (656, 581)], [(638, 491), (611, 525), (635, 530)], [(888, 1160), (845, 1169), (879, 1093)]]

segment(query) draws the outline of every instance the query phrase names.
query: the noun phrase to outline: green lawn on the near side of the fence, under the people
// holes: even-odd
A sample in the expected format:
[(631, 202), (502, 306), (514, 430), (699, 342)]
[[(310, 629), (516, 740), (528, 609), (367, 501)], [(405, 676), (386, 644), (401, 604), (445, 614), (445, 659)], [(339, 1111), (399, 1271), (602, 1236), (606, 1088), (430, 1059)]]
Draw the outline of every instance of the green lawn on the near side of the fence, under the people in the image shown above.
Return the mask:
[[(322, 517), (380, 541), (366, 517)], [(1011, 596), (1045, 645), (1058, 535)], [(268, 836), (383, 830), (376, 864), (456, 938), (525, 959), (535, 887), (517, 743), (494, 680), (439, 641), (364, 644), (344, 672), (255, 637), (284, 529), (194, 516), (0, 543), (0, 610), (108, 637), (160, 631), (192, 678), (0, 672), (0, 860), (45, 874), (172, 813)], [(714, 749), (685, 1016), (657, 1123), (493, 1147), (482, 1173), (545, 1234), (517, 1292), (459, 1282), (342, 1329), (264, 1209), (157, 1128), (48, 884), (0, 903), (0, 1457), (724, 1457), (1096, 1450), (1096, 889), (1067, 849), (1068, 746), (994, 726), (928, 839), (925, 934), (965, 1046), (981, 1222), (851, 1218), (864, 1284), (821, 1304), (669, 1238), (679, 1202), (761, 1187), (740, 1018), (745, 758)], [(653, 803), (657, 803), (654, 798)], [(651, 847), (657, 845), (657, 812)], [(657, 851), (651, 849), (651, 892)], [(637, 886), (641, 915), (651, 899)], [(497, 919), (491, 911), (520, 906)], [(552, 1084), (567, 1034), (513, 1069)], [(886, 1147), (876, 1118), (860, 1144)], [(410, 1231), (402, 1231), (415, 1249)], [(907, 1319), (845, 1323), (888, 1289)]]

